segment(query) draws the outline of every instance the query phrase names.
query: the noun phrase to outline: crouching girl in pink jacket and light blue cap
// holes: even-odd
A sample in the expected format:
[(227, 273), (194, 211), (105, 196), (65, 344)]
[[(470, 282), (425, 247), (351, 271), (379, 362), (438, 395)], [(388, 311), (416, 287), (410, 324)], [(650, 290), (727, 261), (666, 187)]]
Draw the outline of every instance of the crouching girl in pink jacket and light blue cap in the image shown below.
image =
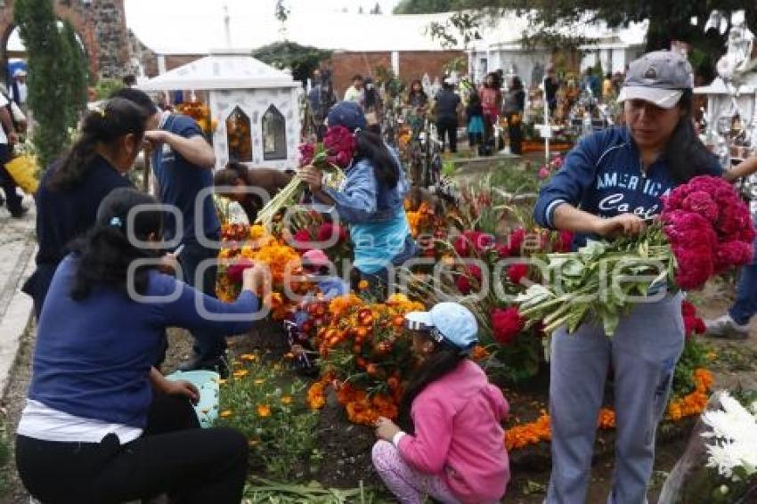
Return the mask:
[(468, 360), (477, 343), (473, 313), (457, 303), (405, 316), (419, 369), (400, 404), (400, 424), (381, 418), (373, 465), (397, 500), (499, 502), (509, 481), (501, 421), (508, 402)]

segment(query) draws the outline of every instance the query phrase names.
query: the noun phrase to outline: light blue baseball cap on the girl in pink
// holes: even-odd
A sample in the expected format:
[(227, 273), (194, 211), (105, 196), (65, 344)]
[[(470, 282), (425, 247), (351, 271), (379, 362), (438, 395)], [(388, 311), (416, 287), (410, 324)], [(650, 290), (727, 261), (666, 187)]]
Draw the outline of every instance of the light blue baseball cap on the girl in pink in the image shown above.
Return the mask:
[(408, 329), (428, 332), (436, 343), (446, 343), (468, 354), (478, 343), (478, 323), (460, 303), (439, 303), (428, 312), (405, 314)]

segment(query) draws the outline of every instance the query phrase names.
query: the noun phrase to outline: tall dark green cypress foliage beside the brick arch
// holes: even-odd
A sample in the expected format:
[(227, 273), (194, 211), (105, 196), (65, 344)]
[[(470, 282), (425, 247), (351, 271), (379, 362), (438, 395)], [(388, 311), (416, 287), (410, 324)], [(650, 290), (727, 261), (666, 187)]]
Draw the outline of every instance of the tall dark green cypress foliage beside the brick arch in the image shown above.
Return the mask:
[(73, 27), (58, 27), (52, 0), (17, 0), (13, 17), (28, 53), (32, 140), (46, 167), (68, 146), (69, 128), (85, 106), (86, 62)]

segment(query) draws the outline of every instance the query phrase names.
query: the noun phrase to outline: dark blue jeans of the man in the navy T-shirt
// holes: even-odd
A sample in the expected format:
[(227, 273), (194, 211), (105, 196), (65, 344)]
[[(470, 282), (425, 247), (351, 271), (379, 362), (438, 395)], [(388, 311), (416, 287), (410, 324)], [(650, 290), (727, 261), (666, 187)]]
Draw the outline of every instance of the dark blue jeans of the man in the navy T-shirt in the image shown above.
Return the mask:
[[(179, 256), (184, 272), (184, 281), (210, 297), (216, 297), (216, 264), (203, 272), (199, 282), (195, 276), (202, 261), (215, 258), (215, 249), (203, 247), (196, 241), (185, 243)], [(202, 361), (213, 361), (224, 355), (226, 338), (223, 333), (194, 330), (191, 331), (191, 336), (194, 338), (192, 349)]]

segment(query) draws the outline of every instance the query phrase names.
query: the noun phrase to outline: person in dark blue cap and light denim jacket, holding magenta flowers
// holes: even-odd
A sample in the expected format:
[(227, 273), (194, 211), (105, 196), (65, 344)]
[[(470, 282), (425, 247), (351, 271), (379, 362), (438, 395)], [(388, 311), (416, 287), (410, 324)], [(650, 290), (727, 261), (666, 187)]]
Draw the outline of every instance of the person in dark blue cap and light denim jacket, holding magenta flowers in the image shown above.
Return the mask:
[(324, 187), (321, 170), (313, 166), (304, 167), (299, 176), (314, 199), (333, 205), (350, 224), (354, 268), (380, 301), (387, 297), (395, 267), (417, 250), (403, 207), (408, 191), (403, 167), (381, 137), (366, 130), (365, 115), (356, 103), (338, 102), (331, 107), (327, 124), (329, 129), (343, 126), (354, 134), (356, 149), (346, 167), (345, 182), (339, 190)]

